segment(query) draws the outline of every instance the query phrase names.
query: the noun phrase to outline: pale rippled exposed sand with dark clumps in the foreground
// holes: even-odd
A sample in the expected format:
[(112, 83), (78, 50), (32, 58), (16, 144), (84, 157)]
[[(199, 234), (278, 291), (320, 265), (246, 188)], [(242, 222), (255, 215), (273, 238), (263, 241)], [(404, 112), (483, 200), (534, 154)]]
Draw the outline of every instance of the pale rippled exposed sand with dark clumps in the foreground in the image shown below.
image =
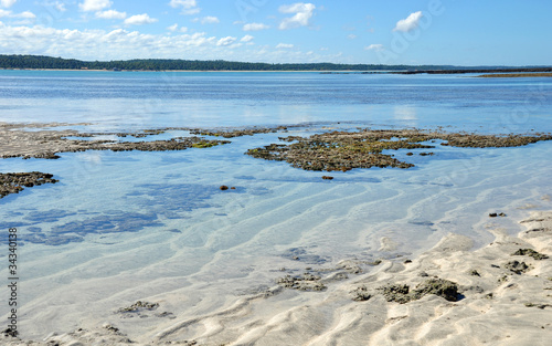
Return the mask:
[[(533, 211), (520, 227), (518, 237), (489, 227), (495, 241), (475, 251), (469, 238), (450, 233), (416, 259), (384, 260), (371, 263), (371, 270), (349, 260), (319, 276), (296, 277), (311, 283), (306, 289), (283, 280), (194, 318), (161, 318), (178, 301), (137, 302), (106, 315), (95, 328), (53, 334), (41, 343), (4, 334), (1, 343), (550, 345), (552, 212)], [(159, 318), (124, 323), (128, 314)]]

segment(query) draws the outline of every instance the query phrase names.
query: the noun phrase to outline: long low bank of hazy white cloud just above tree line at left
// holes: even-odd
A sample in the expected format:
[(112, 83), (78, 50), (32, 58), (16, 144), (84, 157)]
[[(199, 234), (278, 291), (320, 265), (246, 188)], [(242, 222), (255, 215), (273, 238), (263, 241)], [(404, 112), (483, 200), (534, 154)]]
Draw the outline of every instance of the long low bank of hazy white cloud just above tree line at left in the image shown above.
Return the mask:
[[(0, 20), (3, 21), (3, 19)], [(164, 27), (167, 25), (162, 28)], [(174, 32), (147, 34), (129, 28), (60, 30), (42, 25), (13, 27), (4, 21), (3, 24), (0, 23), (0, 52), (63, 56), (85, 61), (182, 59), (185, 56), (189, 60), (222, 59), (267, 63), (343, 62), (343, 57), (333, 52), (318, 50), (314, 53), (304, 52), (295, 45), (291, 49), (284, 49), (283, 45), (276, 49), (275, 44), (261, 46), (253, 43), (257, 38), (250, 39), (248, 35), (237, 36), (237, 39), (222, 36), (221, 39), (221, 36), (208, 35), (205, 32), (181, 33), (179, 30), (182, 28), (178, 27)]]

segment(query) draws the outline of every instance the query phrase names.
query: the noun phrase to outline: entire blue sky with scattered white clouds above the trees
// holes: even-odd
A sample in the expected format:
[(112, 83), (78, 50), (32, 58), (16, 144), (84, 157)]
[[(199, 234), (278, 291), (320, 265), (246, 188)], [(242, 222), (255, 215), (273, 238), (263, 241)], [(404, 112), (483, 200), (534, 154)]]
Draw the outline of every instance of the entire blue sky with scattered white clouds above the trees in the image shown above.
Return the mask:
[(552, 65), (550, 0), (0, 0), (0, 54)]

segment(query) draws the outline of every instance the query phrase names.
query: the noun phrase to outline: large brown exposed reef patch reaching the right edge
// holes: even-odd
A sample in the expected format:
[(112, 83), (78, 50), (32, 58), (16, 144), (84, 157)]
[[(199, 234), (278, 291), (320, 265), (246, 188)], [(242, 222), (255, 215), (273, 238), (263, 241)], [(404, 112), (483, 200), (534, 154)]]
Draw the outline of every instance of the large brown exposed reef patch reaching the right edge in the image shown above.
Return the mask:
[[(435, 148), (433, 143), (453, 147), (518, 147), (539, 140), (551, 140), (550, 134), (534, 135), (477, 135), (467, 133), (425, 132), (418, 129), (363, 129), (360, 132), (331, 132), (310, 137), (280, 137), (290, 144), (270, 144), (247, 150), (247, 155), (267, 160), (286, 161), (305, 170), (342, 170), (371, 167), (410, 168), (384, 150)], [(411, 153), (408, 153), (411, 154)], [(408, 155), (407, 156), (412, 156)], [(422, 153), (433, 156), (433, 153)], [(422, 155), (421, 154), (421, 155)]]

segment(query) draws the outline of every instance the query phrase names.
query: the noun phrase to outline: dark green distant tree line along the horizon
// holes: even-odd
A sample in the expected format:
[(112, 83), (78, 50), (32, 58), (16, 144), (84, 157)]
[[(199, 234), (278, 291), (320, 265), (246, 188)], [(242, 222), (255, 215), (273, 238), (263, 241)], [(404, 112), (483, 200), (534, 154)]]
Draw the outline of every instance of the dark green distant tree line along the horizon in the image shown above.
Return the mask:
[[(126, 61), (81, 61), (41, 55), (0, 55), (0, 69), (39, 70), (132, 70), (132, 71), (468, 71), (473, 69), (501, 70), (503, 66), (461, 67), (453, 65), (382, 65), (382, 64), (268, 64), (235, 61), (201, 61), (140, 59)], [(519, 71), (516, 70), (516, 71)]]

